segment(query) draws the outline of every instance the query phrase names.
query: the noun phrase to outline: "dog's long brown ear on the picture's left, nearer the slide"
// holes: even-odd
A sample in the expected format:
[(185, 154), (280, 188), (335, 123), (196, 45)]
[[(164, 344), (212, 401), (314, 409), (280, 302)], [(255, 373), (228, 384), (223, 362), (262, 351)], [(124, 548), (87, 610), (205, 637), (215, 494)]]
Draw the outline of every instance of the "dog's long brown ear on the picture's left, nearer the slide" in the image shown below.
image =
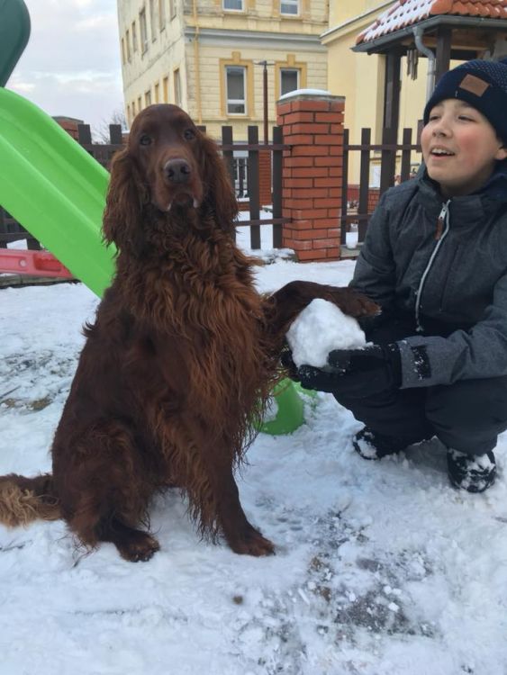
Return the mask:
[(142, 248), (142, 211), (149, 202), (148, 186), (142, 180), (128, 148), (113, 157), (111, 180), (105, 199), (103, 236), (120, 250), (139, 255)]

